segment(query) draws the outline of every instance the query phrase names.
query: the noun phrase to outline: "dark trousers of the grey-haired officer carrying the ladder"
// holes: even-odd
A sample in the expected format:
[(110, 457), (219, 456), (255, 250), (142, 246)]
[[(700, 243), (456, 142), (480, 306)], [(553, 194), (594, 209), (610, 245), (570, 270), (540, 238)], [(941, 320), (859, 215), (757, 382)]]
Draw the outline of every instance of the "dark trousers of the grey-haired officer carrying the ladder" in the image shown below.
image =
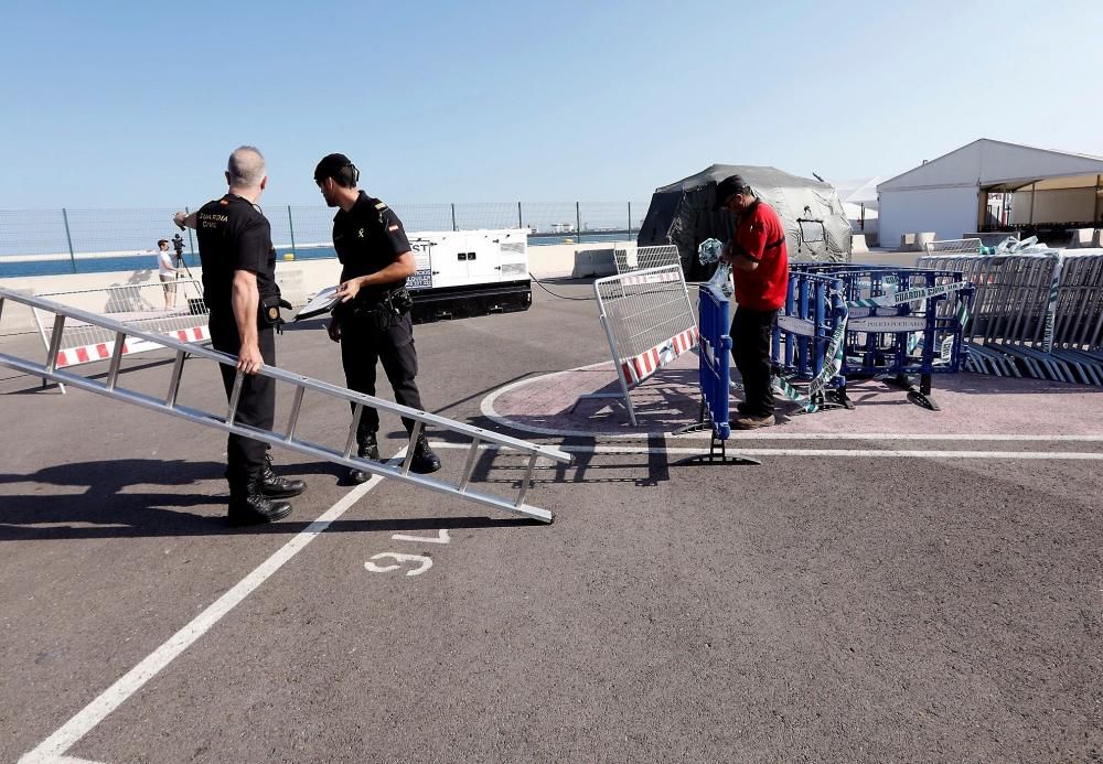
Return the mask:
[[(257, 337), (260, 355), (269, 366), (276, 365), (276, 332), (274, 329), (260, 329)], [(237, 322), (233, 314), (228, 320), (211, 314), (211, 344), (216, 351), (237, 356), (242, 349), (242, 337), (237, 332)], [(237, 369), (233, 366), (219, 366), (222, 381), (226, 388), (226, 399), (229, 400), (234, 389), (234, 378)], [(269, 377), (245, 375), (242, 383), (242, 395), (237, 399), (237, 416), (234, 421), (261, 430), (270, 430), (276, 417), (276, 380)], [(255, 477), (264, 467), (268, 444), (251, 438), (231, 434), (226, 440), (226, 478), (233, 485), (236, 481)]]

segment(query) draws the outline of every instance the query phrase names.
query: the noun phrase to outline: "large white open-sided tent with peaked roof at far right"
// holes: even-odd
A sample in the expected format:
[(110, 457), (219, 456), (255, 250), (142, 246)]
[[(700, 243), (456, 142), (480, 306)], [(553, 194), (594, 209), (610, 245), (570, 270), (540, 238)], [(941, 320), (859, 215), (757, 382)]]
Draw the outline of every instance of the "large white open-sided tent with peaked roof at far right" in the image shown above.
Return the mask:
[(881, 241), (1100, 227), (1103, 158), (982, 138), (877, 186)]

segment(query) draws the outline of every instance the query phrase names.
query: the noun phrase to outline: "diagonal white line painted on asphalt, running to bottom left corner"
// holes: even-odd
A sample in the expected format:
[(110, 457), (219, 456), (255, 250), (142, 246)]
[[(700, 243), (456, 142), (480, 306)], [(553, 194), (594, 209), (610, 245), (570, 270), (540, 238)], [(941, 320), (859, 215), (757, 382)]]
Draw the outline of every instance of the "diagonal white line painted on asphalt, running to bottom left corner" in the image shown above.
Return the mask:
[[(390, 461), (393, 463), (400, 463), (405, 454), (406, 449), (403, 448)], [(181, 653), (194, 644), (196, 639), (206, 634), (226, 613), (234, 610), (245, 598), (256, 591), (260, 584), (271, 578), (285, 562), (302, 551), (308, 544), (330, 527), (330, 524), (345, 514), (364, 494), (382, 482), (383, 477), (373, 475), (366, 483), (356, 486), (345, 494), (340, 502), (330, 507), (321, 517), (285, 544), (276, 553), (261, 562), (256, 570), (242, 579), (237, 585), (215, 600), (214, 603), (195, 616), (191, 623), (173, 634), (168, 642), (153, 650), (144, 660), (104, 690), (98, 698), (85, 706), (75, 717), (65, 722), (61, 729), (42, 741), (33, 751), (24, 754), (19, 760), (19, 764), (56, 764), (58, 761), (77, 761), (64, 757), (58, 760), (58, 757), (73, 747), (78, 740), (92, 732), (111, 711), (126, 702), (130, 696), (141, 689), (146, 682), (157, 676), (161, 669), (172, 663)]]

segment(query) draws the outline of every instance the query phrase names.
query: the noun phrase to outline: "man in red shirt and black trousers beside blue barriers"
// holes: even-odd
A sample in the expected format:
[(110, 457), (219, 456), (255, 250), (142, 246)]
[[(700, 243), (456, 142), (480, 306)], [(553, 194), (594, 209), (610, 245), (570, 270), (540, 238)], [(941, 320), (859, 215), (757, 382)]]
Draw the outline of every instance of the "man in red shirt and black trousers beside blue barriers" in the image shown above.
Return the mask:
[(720, 256), (731, 266), (736, 284), (736, 313), (731, 320), (731, 357), (743, 378), (746, 401), (736, 427), (753, 430), (774, 424), (770, 344), (778, 310), (789, 289), (789, 250), (785, 228), (770, 205), (763, 203), (739, 175), (716, 184), (715, 209), (736, 215), (736, 230)]

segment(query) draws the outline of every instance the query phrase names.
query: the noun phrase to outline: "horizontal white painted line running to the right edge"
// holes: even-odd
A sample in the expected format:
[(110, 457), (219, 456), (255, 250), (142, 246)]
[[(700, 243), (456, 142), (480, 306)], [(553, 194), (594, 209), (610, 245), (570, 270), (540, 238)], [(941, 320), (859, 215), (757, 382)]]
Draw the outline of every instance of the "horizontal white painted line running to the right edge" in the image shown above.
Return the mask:
[[(741, 449), (728, 441), (728, 455), (746, 456), (835, 456), (849, 459), (1021, 459), (1051, 461), (1103, 461), (1099, 453), (1083, 451), (901, 451), (899, 449)], [(435, 449), (469, 449), (464, 443), (432, 443)], [(496, 445), (480, 445), (480, 449), (496, 449)], [(671, 453), (707, 456), (708, 451), (690, 448), (658, 448), (646, 445), (560, 445), (574, 453)], [(717, 454), (719, 455), (719, 454)], [(569, 469), (569, 467), (568, 467)]]

